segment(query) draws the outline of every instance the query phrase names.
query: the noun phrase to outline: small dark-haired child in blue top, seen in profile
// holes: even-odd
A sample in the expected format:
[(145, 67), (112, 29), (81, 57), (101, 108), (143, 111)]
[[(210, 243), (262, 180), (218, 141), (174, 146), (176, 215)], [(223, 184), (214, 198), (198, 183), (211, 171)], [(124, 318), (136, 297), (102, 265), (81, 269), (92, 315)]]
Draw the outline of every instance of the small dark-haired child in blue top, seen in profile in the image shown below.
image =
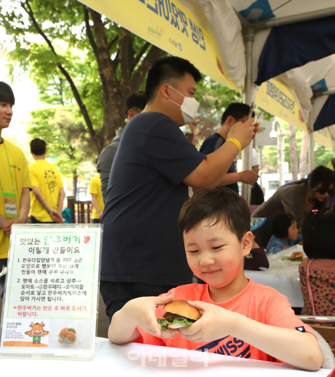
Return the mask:
[(275, 254), (302, 241), (298, 234), (296, 220), (290, 213), (279, 213), (272, 220), (272, 235), (266, 245), (266, 252)]

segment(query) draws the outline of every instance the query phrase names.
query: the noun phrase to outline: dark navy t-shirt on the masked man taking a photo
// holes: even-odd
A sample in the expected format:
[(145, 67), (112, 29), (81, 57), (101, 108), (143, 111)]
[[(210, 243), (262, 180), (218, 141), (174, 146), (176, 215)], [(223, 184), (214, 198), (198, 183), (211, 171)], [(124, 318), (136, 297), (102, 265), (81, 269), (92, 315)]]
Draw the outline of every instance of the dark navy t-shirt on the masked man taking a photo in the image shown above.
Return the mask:
[(178, 216), (188, 198), (182, 180), (204, 158), (160, 112), (143, 112), (129, 121), (106, 192), (101, 280), (191, 282)]

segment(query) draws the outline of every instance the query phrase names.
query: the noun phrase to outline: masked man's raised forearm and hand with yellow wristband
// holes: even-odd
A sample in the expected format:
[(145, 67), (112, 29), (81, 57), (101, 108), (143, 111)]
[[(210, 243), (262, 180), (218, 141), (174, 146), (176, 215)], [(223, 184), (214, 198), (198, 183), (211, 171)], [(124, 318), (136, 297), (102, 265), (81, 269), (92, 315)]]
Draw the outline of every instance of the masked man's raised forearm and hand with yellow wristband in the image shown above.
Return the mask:
[[(250, 143), (257, 129), (257, 123), (251, 125), (254, 119), (250, 118), (244, 123), (237, 122), (234, 124), (228, 134), (228, 138), (234, 138), (239, 141), (241, 148)], [(236, 158), (238, 147), (230, 141), (226, 141), (214, 152), (207, 154), (199, 165), (188, 174), (182, 181), (188, 186), (194, 188), (205, 188), (216, 180), (221, 180), (222, 175), (228, 171), (232, 161)]]

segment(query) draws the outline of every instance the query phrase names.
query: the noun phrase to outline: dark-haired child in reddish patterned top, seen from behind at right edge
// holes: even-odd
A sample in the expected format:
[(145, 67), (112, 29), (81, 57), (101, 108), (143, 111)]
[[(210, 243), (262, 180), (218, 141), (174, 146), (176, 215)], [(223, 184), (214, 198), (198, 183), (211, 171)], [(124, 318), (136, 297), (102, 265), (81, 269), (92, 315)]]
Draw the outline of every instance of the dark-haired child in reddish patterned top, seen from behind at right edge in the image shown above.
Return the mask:
[(315, 209), (302, 224), (303, 251), (299, 264), (303, 297), (301, 314), (335, 315), (335, 210)]

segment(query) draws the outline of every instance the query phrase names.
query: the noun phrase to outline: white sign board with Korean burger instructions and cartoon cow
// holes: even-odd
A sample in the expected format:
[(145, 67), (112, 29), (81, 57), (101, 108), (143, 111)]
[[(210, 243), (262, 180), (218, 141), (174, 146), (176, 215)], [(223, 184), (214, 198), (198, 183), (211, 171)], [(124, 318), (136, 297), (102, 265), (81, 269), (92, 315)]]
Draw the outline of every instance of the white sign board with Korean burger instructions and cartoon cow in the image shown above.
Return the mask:
[(100, 224), (14, 224), (0, 352), (94, 355)]

